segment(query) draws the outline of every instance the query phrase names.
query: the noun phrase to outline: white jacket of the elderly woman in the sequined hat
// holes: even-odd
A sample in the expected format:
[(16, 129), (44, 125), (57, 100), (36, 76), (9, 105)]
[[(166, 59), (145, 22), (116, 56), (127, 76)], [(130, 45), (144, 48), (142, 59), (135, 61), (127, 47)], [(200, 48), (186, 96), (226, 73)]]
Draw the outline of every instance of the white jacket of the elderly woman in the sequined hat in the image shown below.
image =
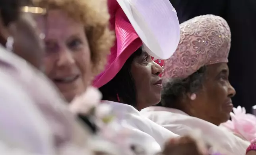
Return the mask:
[(152, 106), (141, 110), (141, 113), (155, 123), (180, 136), (198, 129), (202, 132), (203, 138), (232, 153), (232, 155), (244, 155), (246, 148), (250, 144), (221, 127), (189, 116), (177, 109)]

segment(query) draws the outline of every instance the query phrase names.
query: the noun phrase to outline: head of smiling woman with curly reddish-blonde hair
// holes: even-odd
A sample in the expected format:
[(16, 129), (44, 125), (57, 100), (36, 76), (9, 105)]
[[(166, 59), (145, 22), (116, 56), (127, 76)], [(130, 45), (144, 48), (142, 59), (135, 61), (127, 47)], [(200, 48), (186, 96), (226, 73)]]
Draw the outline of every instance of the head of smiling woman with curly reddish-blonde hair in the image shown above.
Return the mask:
[(113, 45), (105, 0), (33, 0), (45, 8), (36, 17), (45, 34), (45, 74), (68, 102), (81, 95), (103, 70)]

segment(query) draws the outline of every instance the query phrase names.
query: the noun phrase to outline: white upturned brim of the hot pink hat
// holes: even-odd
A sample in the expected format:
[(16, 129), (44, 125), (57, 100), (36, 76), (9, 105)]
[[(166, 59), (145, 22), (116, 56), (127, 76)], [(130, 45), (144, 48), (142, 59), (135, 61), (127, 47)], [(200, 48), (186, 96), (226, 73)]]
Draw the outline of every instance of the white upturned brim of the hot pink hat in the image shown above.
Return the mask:
[(180, 25), (169, 0), (117, 0), (144, 49), (157, 59), (169, 59), (180, 40)]

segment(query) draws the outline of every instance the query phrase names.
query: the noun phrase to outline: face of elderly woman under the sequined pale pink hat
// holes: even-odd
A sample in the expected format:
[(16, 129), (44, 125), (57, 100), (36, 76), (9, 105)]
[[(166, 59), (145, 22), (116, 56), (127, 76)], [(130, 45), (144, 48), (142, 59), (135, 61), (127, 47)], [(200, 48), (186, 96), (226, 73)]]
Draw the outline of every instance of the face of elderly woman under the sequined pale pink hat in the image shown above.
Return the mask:
[(229, 83), (227, 63), (211, 64), (207, 66), (203, 88), (196, 93), (196, 100), (191, 106), (196, 111), (196, 117), (219, 125), (229, 119), (233, 108), (231, 98), (235, 93)]

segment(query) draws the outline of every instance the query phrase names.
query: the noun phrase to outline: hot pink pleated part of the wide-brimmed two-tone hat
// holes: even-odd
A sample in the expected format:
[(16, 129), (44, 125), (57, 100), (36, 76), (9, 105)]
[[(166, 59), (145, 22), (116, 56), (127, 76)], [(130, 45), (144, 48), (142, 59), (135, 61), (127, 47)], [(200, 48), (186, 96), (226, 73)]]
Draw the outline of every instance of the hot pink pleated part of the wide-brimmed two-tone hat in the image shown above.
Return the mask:
[(105, 70), (93, 82), (93, 86), (97, 88), (116, 76), (130, 55), (142, 46), (142, 41), (116, 0), (108, 0), (108, 5), (111, 15), (110, 24), (115, 30), (116, 42), (111, 48)]

